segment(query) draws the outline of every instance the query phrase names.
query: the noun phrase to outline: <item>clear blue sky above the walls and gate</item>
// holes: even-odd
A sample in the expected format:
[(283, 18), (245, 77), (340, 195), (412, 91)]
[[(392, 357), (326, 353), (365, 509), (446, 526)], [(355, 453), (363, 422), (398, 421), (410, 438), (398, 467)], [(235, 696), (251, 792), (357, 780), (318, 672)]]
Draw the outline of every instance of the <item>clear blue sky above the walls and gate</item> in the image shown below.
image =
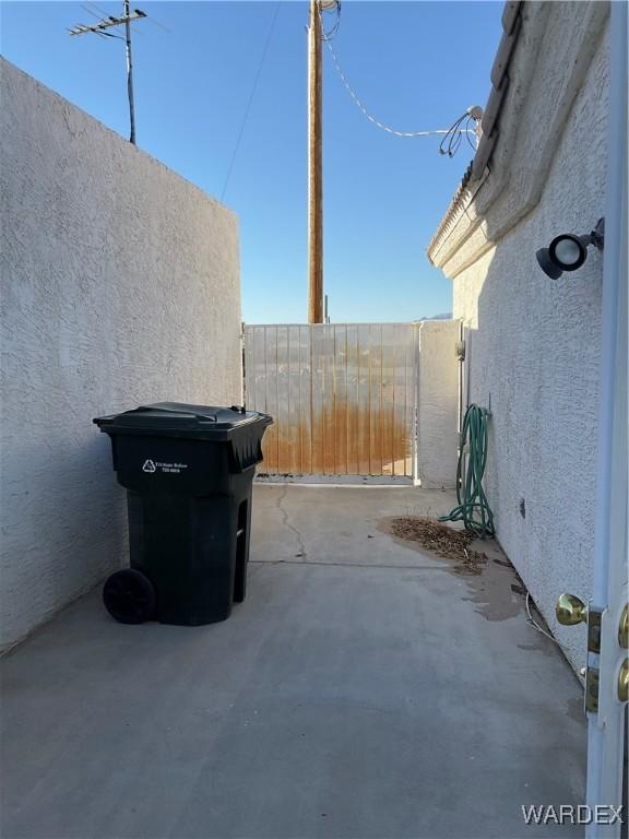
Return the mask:
[[(118, 14), (121, 2), (96, 5)], [(277, 3), (138, 2), (138, 145), (221, 197)], [(485, 105), (498, 2), (345, 0), (333, 42), (358, 96), (401, 130), (447, 128)], [(123, 42), (66, 28), (81, 3), (2, 3), (2, 54), (128, 135)], [(308, 4), (282, 2), (224, 202), (240, 220), (242, 315), (304, 322), (307, 300)], [(324, 50), (324, 282), (333, 321), (404, 321), (451, 309), (425, 249), (471, 159), (438, 138), (372, 126)], [(165, 196), (165, 200), (167, 197)]]

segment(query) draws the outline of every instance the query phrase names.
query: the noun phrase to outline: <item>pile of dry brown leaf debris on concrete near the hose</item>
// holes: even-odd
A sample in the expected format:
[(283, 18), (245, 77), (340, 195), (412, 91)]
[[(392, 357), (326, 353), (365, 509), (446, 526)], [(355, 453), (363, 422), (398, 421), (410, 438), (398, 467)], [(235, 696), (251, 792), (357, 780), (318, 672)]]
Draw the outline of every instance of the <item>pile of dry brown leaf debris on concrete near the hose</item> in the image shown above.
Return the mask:
[(390, 520), (391, 533), (430, 551), (444, 559), (461, 563), (471, 571), (479, 571), (487, 554), (470, 547), (477, 536), (468, 530), (455, 530), (434, 519), (403, 516)]

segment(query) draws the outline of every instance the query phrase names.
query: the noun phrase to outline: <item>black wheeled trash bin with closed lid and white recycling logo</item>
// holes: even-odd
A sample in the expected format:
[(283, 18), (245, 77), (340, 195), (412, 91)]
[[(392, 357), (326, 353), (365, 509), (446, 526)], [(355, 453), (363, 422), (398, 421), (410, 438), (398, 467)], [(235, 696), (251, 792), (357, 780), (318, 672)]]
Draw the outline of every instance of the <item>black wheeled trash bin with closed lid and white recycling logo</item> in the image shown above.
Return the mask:
[(105, 583), (122, 623), (198, 626), (245, 600), (251, 488), (273, 421), (244, 407), (157, 402), (94, 420), (127, 489), (131, 568)]

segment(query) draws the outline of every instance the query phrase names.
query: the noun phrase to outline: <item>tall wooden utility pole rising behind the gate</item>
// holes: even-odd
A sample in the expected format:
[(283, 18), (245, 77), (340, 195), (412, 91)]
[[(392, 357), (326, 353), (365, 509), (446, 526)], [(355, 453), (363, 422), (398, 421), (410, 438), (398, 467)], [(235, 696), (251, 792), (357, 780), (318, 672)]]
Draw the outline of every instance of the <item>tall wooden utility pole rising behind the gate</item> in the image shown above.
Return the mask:
[(310, 0), (308, 26), (308, 322), (323, 322), (323, 161), (321, 2)]

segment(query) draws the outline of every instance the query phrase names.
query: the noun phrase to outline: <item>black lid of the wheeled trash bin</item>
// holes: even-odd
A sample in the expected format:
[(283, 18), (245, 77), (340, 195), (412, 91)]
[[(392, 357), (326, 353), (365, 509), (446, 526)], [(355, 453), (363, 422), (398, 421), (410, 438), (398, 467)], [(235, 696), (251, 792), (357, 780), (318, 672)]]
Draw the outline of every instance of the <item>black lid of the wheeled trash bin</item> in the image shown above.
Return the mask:
[(225, 439), (229, 433), (244, 425), (273, 421), (258, 411), (246, 411), (233, 405), (190, 405), (183, 402), (155, 402), (140, 405), (131, 411), (94, 420), (100, 430), (107, 434), (168, 434)]

